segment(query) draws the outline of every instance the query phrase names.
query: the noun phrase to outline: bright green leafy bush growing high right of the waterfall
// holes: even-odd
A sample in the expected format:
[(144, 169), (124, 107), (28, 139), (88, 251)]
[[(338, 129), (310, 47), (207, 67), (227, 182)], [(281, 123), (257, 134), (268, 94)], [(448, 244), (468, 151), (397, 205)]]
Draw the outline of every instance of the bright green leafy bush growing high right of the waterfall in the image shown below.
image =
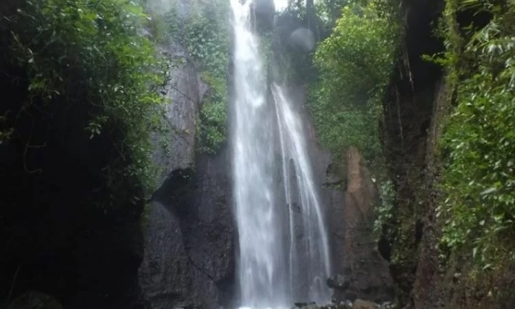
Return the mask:
[(381, 101), (397, 56), (396, 16), (378, 1), (347, 5), (315, 53), (320, 81), (310, 110), (322, 143), (334, 154), (355, 146), (365, 159), (380, 157)]

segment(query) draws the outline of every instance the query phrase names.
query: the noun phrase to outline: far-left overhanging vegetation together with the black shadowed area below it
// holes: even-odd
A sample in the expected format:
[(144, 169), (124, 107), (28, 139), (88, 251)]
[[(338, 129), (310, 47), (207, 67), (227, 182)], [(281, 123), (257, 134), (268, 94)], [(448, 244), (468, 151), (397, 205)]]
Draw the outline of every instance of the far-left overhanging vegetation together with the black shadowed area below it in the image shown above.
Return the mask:
[(139, 1), (1, 1), (0, 307), (136, 301), (168, 78), (148, 21)]

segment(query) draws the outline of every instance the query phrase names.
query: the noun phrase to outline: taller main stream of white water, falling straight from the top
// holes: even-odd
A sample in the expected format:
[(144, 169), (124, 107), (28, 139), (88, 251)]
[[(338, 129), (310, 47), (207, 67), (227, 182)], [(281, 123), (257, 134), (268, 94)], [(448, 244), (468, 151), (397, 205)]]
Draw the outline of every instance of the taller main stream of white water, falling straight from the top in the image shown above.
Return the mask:
[[(251, 32), (250, 1), (231, 0), (234, 12), (233, 181), (238, 223), (240, 293), (245, 306), (286, 304), (280, 225), (273, 190), (273, 131), (266, 76)], [(284, 267), (284, 266), (283, 266)]]

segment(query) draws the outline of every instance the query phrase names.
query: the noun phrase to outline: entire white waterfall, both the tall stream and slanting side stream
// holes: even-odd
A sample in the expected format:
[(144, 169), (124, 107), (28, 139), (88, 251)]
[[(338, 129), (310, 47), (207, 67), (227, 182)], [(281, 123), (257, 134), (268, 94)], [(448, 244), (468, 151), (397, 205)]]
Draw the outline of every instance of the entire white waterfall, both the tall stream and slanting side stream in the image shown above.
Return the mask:
[(285, 89), (268, 87), (251, 1), (231, 0), (231, 6), (231, 162), (242, 306), (327, 303), (328, 239), (301, 117)]

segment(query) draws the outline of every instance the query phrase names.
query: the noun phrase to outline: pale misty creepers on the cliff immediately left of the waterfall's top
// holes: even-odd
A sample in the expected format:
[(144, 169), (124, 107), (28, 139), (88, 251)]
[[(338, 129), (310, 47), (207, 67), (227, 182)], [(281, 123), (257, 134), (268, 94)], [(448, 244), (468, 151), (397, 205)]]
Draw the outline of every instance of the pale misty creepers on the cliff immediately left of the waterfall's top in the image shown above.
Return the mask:
[[(152, 35), (157, 43), (181, 43), (201, 70), (209, 93), (197, 119), (197, 149), (214, 154), (227, 139), (227, 83), (229, 71), (229, 1), (195, 1), (181, 16), (179, 2), (151, 9)], [(184, 59), (183, 59), (184, 60)]]

